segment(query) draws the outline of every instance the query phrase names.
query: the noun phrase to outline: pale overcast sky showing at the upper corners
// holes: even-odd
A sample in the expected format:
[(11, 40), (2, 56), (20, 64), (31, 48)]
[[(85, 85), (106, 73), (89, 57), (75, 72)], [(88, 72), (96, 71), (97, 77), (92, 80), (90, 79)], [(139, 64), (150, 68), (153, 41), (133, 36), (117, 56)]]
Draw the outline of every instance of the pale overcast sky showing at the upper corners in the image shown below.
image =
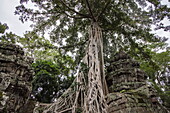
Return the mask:
[[(25, 22), (24, 24), (19, 20), (19, 17), (14, 15), (15, 7), (19, 5), (19, 0), (0, 0), (0, 22), (7, 23), (9, 26), (8, 31), (22, 36), (25, 31), (31, 30), (29, 27), (31, 22)], [(168, 0), (163, 0), (164, 4), (170, 6)], [(31, 5), (30, 5), (31, 6)], [(165, 20), (164, 24), (170, 25), (170, 21)], [(164, 32), (163, 30), (156, 31), (160, 36), (169, 37), (168, 43), (170, 44), (170, 32)]]

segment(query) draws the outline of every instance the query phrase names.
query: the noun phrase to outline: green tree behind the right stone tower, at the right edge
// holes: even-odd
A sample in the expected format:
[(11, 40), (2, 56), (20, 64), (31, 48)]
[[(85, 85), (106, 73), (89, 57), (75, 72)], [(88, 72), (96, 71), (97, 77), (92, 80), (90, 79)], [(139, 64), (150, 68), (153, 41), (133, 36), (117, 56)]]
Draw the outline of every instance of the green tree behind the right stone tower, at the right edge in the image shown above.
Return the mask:
[[(169, 45), (164, 42), (150, 43), (143, 48), (130, 49), (128, 53), (140, 62), (140, 68), (148, 75), (150, 82), (157, 90), (157, 96), (161, 98), (162, 104), (170, 107), (169, 101)], [(142, 50), (142, 55), (134, 54)], [(143, 56), (144, 55), (144, 56)]]

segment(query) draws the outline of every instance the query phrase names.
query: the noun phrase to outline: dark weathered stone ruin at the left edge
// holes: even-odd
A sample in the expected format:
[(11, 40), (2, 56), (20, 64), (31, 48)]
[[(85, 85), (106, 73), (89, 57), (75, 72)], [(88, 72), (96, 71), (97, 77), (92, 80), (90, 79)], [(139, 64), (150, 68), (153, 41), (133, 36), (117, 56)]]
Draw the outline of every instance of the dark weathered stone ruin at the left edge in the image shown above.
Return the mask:
[(0, 112), (24, 113), (31, 92), (32, 62), (21, 47), (0, 43)]

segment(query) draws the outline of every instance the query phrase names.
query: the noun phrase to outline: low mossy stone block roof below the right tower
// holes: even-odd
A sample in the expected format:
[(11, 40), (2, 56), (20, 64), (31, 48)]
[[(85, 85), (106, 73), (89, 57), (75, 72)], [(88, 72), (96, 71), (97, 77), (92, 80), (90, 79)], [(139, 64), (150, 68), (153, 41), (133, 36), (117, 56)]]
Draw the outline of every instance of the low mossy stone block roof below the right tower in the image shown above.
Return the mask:
[(110, 93), (107, 102), (108, 113), (168, 113), (155, 97), (140, 92)]

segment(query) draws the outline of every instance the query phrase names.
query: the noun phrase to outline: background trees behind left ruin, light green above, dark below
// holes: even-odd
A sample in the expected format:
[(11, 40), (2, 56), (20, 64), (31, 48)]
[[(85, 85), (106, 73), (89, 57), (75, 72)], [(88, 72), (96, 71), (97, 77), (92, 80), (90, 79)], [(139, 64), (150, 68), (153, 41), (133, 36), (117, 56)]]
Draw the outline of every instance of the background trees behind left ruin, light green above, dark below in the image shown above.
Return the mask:
[(0, 42), (20, 44), (27, 56), (34, 58), (32, 98), (44, 103), (54, 101), (75, 78), (73, 59), (54, 50), (49, 40), (38, 36), (35, 32), (27, 32), (23, 37), (19, 37), (12, 32), (6, 32), (7, 29), (6, 24), (0, 23), (0, 33), (2, 33)]

